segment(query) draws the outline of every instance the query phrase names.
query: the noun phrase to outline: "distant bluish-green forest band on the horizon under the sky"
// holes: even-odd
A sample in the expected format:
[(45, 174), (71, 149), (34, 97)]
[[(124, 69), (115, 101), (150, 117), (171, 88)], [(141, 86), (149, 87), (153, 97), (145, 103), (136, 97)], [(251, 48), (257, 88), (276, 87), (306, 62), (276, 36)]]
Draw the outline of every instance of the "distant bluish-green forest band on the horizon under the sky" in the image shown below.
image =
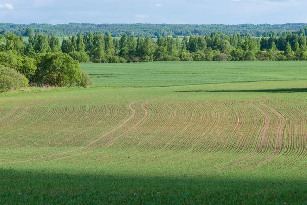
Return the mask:
[[(279, 36), (284, 32), (297, 32), (301, 28), (307, 27), (305, 23), (287, 24), (240, 24), (240, 25), (189, 25), (189, 24), (90, 24), (90, 23), (69, 23), (69, 24), (7, 24), (0, 23), (0, 34), (13, 33), (18, 36), (29, 36), (29, 28), (33, 28), (35, 33), (55, 35), (58, 37), (68, 37), (78, 33), (111, 33), (112, 37), (123, 35), (135, 37), (158, 38), (160, 35), (166, 36), (205, 36), (213, 32), (221, 32), (226, 35), (249, 33), (254, 37)], [(31, 30), (30, 30), (31, 31)]]

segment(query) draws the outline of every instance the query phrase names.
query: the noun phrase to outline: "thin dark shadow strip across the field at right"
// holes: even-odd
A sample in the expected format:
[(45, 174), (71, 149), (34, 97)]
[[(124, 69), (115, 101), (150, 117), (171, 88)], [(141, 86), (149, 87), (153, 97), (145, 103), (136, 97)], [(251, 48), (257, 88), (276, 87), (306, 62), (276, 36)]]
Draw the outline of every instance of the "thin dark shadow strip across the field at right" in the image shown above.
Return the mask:
[(210, 93), (232, 93), (232, 92), (268, 92), (268, 93), (302, 93), (307, 92), (307, 88), (277, 88), (277, 89), (259, 89), (259, 90), (186, 90), (174, 92), (210, 92)]

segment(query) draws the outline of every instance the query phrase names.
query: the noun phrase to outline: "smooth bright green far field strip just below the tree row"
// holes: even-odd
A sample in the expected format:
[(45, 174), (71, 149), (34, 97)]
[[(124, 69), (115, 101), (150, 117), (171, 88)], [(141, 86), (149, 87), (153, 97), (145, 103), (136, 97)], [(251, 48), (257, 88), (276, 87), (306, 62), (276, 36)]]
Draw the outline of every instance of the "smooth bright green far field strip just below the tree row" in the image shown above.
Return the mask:
[(95, 86), (157, 87), (306, 79), (305, 61), (81, 64)]

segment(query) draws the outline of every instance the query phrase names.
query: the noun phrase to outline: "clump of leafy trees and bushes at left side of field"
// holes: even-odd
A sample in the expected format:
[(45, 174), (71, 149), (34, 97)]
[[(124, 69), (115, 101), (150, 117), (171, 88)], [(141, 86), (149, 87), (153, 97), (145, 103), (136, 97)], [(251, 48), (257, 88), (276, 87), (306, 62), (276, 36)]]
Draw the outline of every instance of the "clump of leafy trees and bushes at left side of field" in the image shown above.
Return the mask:
[(22, 37), (15, 34), (0, 35), (0, 66), (0, 92), (28, 84), (92, 84), (91, 78), (81, 71), (79, 62), (61, 52), (59, 39), (55, 36), (38, 34), (25, 43)]

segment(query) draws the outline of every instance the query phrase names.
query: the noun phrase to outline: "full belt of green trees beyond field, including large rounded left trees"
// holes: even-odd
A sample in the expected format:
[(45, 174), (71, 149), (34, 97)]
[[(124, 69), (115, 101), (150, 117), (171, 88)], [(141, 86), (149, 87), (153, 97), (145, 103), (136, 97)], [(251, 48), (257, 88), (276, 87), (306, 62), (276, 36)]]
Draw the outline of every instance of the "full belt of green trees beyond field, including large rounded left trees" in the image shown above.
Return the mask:
[[(153, 40), (124, 34), (113, 38), (111, 33), (92, 33), (64, 38), (45, 35), (27, 29), (28, 42), (22, 36), (0, 34), (0, 65), (3, 80), (19, 79), (18, 85), (89, 86), (91, 78), (82, 73), (79, 62), (119, 63), (147, 61), (210, 61), (210, 60), (307, 60), (306, 29), (296, 32), (270, 33), (270, 37), (255, 38), (251, 34), (213, 32), (211, 34), (171, 36)], [(6, 77), (4, 77), (6, 76)], [(17, 76), (17, 75), (16, 75)], [(7, 82), (6, 81), (6, 82)]]

